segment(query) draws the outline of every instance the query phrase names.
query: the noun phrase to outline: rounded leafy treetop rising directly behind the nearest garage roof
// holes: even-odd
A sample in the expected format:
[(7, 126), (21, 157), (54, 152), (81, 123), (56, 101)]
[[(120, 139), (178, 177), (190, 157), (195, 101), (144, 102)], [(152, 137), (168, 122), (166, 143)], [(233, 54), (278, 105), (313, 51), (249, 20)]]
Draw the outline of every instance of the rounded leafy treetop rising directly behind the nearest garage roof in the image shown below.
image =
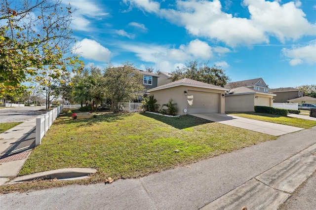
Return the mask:
[(185, 67), (177, 68), (172, 71), (172, 81), (189, 78), (217, 86), (226, 85), (229, 77), (225, 75), (225, 70), (213, 66), (209, 67), (207, 63), (198, 64), (197, 61), (186, 63)]

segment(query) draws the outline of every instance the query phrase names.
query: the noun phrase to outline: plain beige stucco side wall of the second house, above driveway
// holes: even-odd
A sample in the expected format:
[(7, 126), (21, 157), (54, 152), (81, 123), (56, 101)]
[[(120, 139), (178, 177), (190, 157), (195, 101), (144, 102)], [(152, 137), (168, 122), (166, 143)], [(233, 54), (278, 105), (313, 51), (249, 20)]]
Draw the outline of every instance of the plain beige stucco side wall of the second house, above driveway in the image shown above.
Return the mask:
[(226, 95), (225, 111), (226, 112), (248, 112), (254, 111), (254, 94), (245, 95)]

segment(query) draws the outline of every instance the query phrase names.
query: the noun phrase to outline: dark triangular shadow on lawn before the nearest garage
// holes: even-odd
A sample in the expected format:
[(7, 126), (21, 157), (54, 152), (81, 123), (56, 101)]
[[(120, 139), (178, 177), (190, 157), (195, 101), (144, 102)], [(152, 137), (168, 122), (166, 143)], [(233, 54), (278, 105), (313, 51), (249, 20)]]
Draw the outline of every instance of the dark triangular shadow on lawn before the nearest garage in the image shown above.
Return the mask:
[(206, 123), (212, 123), (212, 121), (202, 119), (199, 117), (195, 117), (192, 115), (181, 115), (179, 117), (166, 117), (158, 114), (152, 114), (152, 113), (141, 113), (142, 115), (146, 117), (153, 118), (155, 120), (158, 120), (160, 122), (166, 123), (168, 125), (171, 125), (174, 128), (177, 129), (185, 129), (194, 127), (197, 125), (202, 125)]

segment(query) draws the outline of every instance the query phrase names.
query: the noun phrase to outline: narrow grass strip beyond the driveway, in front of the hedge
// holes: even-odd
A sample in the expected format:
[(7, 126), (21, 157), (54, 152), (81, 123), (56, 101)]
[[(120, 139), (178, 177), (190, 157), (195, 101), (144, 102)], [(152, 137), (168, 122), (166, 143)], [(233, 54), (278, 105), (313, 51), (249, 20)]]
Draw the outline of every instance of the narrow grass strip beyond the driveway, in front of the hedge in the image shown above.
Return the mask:
[(306, 120), (301, 118), (295, 117), (284, 117), (274, 114), (265, 114), (265, 113), (254, 113), (254, 112), (246, 112), (246, 113), (230, 113), (231, 115), (254, 119), (254, 120), (261, 120), (266, 122), (272, 122), (276, 124), (282, 125), (289, 125), (298, 128), (310, 129), (316, 126), (316, 121), (313, 120)]

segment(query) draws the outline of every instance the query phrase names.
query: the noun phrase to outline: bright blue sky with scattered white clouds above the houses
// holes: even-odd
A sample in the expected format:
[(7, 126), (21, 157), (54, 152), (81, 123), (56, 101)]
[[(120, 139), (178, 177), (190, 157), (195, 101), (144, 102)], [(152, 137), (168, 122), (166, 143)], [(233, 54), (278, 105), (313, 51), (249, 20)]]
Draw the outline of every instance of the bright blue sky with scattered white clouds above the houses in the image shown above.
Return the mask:
[(232, 81), (316, 84), (316, 0), (63, 0), (78, 10), (74, 47), (85, 65), (133, 63), (171, 72), (209, 62)]

